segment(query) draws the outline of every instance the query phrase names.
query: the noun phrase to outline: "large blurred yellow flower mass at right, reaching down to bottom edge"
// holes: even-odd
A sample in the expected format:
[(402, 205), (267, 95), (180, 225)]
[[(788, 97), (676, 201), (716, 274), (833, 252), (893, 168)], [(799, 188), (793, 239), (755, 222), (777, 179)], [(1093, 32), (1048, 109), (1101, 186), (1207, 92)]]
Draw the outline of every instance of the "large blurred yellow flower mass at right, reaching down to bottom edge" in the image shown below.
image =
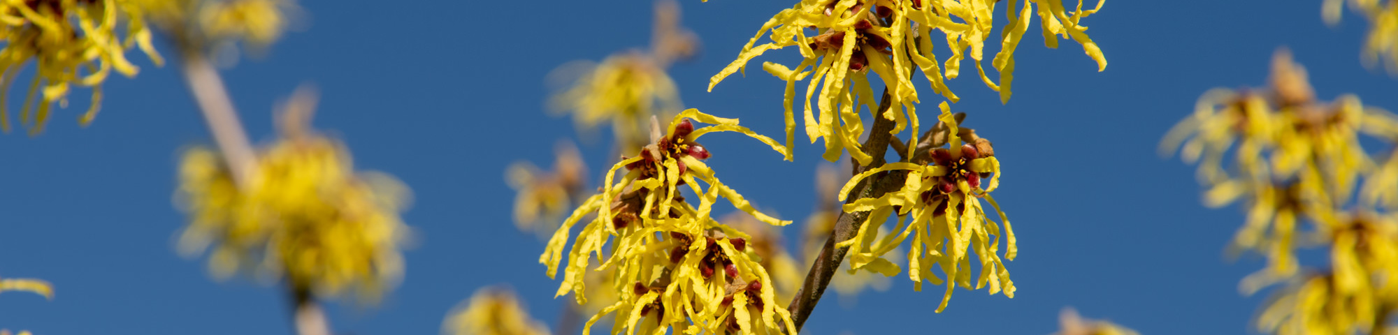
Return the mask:
[[(1183, 147), (1187, 162), (1199, 162), (1208, 205), (1247, 202), (1232, 248), (1264, 254), (1268, 265), (1243, 290), (1289, 283), (1260, 313), (1261, 331), (1380, 332), (1398, 308), (1398, 159), (1378, 166), (1362, 145), (1394, 138), (1398, 117), (1352, 95), (1317, 100), (1285, 50), (1268, 88), (1209, 91), (1166, 137), (1162, 149)], [(1329, 267), (1303, 269), (1299, 244), (1328, 247)]]

